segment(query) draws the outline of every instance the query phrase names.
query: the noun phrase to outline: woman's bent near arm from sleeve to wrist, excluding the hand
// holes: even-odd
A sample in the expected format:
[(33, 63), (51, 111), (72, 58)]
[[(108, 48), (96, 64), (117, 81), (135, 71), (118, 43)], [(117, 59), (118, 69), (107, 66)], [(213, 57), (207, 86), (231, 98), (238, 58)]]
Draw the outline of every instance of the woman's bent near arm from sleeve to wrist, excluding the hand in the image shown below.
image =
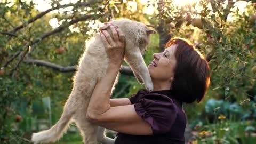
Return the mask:
[(118, 68), (110, 66), (105, 77), (97, 83), (87, 110), (87, 119), (110, 130), (127, 134), (153, 134), (150, 124), (135, 111), (134, 105), (110, 107), (111, 86)]

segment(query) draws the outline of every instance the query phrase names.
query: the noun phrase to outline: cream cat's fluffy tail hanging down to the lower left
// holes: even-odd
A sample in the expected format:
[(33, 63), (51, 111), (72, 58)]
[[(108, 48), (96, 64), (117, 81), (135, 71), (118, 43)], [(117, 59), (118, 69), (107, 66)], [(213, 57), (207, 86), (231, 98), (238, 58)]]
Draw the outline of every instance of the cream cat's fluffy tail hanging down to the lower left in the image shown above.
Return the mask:
[(34, 143), (49, 143), (59, 140), (62, 137), (63, 133), (66, 132), (70, 119), (75, 113), (75, 110), (72, 109), (73, 108), (67, 108), (65, 105), (59, 121), (49, 130), (33, 133), (31, 141), (33, 141)]

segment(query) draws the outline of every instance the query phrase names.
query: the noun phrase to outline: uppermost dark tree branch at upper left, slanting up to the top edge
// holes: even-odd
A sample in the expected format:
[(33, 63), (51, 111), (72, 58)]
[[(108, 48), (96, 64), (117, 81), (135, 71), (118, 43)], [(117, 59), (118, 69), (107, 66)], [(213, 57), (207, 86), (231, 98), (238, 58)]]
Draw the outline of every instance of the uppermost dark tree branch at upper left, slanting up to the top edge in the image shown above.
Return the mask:
[(9, 31), (9, 33), (15, 33), (17, 30), (26, 27), (26, 26), (29, 25), (30, 23), (36, 21), (36, 20), (39, 19), (39, 18), (42, 18), (45, 14), (47, 14), (47, 13), (53, 11), (53, 10), (57, 10), (57, 9), (64, 8), (64, 7), (69, 7), (69, 6), (89, 6), (89, 5), (98, 3), (98, 2), (99, 2), (98, 0), (97, 0), (97, 1), (91, 0), (91, 1), (89, 1), (89, 2), (82, 2), (82, 3), (75, 3), (75, 4), (70, 3), (70, 4), (58, 5), (58, 6), (56, 6), (56, 7), (52, 7), (51, 9), (48, 9), (48, 10), (46, 10), (46, 11), (44, 11), (44, 12), (41, 12), (41, 13), (37, 14), (35, 17), (29, 19), (27, 22), (22, 23), (21, 25), (19, 25), (19, 26), (13, 28), (11, 31)]

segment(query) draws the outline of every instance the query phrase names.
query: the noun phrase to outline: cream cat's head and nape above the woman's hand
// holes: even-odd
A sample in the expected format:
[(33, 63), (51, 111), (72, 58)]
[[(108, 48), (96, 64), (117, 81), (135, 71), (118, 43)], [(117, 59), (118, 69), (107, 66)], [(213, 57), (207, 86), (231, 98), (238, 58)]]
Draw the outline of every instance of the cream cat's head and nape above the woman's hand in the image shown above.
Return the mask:
[[(113, 20), (110, 25), (118, 26), (125, 35), (125, 49), (139, 49), (143, 53), (147, 49), (150, 41), (150, 34), (155, 34), (156, 31), (148, 28), (145, 24), (129, 19)], [(110, 25), (106, 25), (108, 27)], [(109, 31), (111, 33), (111, 31)]]

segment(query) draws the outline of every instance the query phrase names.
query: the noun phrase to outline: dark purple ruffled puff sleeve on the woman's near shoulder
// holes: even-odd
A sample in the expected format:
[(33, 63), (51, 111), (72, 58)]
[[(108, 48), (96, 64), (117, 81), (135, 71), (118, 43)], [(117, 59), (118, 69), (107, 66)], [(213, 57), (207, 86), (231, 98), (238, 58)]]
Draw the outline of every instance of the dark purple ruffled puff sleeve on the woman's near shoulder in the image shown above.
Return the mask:
[[(135, 102), (138, 100), (137, 102)], [(153, 134), (164, 134), (170, 131), (177, 118), (177, 106), (166, 95), (148, 93), (141, 99), (133, 98), (135, 111), (151, 125)]]

